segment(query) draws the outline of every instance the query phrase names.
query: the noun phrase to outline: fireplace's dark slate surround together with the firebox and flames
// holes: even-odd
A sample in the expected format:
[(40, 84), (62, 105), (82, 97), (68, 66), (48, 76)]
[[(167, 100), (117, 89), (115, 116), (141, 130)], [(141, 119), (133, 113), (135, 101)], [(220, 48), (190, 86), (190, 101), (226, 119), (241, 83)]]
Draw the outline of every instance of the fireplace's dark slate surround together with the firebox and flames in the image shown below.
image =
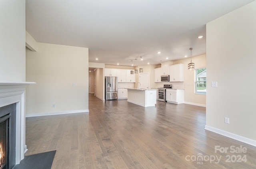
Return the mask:
[(12, 169), (16, 157), (16, 103), (0, 107), (0, 169)]

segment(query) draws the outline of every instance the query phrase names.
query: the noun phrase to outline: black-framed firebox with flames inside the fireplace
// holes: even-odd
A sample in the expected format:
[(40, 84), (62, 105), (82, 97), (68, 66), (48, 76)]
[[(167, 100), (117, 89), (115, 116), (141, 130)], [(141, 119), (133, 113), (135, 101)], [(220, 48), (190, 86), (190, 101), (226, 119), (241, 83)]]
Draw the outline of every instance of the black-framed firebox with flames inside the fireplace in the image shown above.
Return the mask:
[(9, 118), (0, 117), (0, 169), (9, 169)]

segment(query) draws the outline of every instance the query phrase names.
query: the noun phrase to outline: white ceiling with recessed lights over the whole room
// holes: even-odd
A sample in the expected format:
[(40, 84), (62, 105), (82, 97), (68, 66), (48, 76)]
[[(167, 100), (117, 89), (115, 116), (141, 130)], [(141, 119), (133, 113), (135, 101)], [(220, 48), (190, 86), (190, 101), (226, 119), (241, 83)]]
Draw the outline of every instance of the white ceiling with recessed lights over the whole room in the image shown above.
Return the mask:
[(26, 0), (26, 30), (38, 42), (88, 47), (89, 62), (156, 65), (190, 47), (205, 54), (206, 23), (252, 1)]

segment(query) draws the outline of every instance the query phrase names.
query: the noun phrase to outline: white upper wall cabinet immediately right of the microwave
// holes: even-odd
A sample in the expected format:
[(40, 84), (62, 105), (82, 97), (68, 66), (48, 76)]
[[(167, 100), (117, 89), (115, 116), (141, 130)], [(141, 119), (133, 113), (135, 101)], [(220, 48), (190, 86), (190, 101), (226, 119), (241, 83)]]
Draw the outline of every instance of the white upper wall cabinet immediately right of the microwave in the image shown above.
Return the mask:
[(184, 64), (170, 65), (169, 68), (170, 82), (184, 81)]

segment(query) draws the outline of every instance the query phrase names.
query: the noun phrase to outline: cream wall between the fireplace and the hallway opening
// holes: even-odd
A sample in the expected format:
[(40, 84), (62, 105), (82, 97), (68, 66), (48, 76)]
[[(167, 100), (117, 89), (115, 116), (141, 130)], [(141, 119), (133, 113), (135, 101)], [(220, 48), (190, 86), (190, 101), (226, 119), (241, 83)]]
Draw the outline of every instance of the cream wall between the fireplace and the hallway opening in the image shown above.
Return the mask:
[(26, 81), (36, 82), (26, 90), (27, 115), (88, 111), (88, 48), (38, 43), (26, 50)]

